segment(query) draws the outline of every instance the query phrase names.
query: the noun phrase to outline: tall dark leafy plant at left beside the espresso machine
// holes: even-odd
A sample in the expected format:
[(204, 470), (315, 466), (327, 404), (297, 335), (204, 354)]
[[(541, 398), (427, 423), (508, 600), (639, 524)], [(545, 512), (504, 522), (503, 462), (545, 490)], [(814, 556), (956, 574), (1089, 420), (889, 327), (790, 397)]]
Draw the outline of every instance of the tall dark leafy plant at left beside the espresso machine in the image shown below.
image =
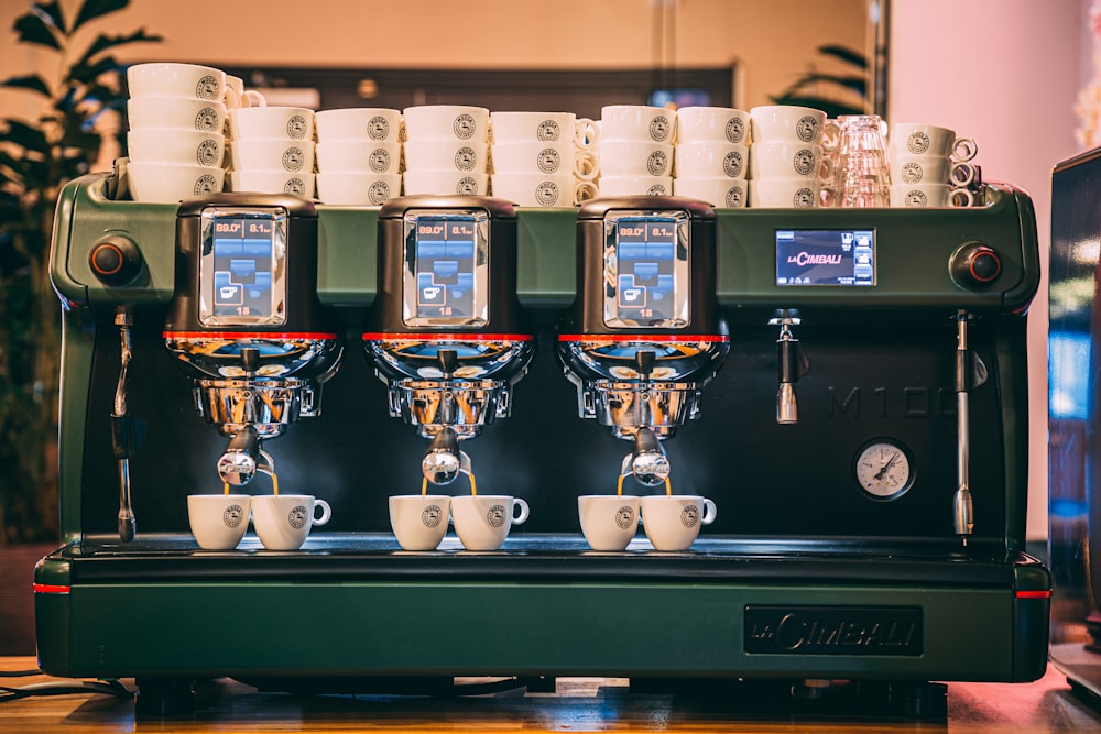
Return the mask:
[(33, 2), (12, 29), (57, 65), (52, 75), (0, 83), (35, 95), (43, 110), (33, 121), (0, 120), (0, 546), (57, 537), (61, 308), (50, 239), (62, 187), (99, 156), (106, 138), (97, 124), (126, 105), (123, 66), (110, 52), (161, 40), (144, 29), (92, 36), (96, 23), (129, 4), (81, 0), (67, 17), (57, 0)]

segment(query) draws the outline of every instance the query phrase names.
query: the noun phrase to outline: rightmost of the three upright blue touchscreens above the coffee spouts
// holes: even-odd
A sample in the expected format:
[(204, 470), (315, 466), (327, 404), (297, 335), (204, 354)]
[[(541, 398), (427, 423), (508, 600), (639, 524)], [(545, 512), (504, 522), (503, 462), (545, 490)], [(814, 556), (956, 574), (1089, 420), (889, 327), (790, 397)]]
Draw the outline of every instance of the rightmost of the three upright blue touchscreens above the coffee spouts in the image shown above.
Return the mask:
[(677, 221), (621, 218), (615, 222), (619, 318), (669, 320), (677, 316)]

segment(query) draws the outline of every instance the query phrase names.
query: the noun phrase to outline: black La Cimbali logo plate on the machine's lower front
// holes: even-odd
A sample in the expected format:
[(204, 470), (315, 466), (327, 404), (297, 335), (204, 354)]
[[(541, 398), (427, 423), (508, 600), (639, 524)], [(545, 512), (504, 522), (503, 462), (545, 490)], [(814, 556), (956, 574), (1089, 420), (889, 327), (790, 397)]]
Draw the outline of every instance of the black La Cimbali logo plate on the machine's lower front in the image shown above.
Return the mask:
[(745, 607), (745, 651), (772, 655), (922, 655), (917, 606)]

